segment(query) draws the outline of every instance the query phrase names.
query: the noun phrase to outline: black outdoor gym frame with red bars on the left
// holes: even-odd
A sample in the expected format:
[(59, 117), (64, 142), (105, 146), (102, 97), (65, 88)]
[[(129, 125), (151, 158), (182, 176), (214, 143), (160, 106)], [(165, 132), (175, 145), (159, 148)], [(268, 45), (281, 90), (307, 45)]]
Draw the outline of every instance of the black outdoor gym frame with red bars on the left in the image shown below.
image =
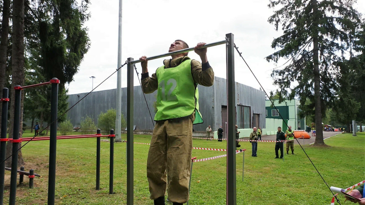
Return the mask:
[[(32, 138), (20, 138), (20, 101), (22, 96), (22, 90), (25, 88), (33, 88), (43, 85), (52, 84), (51, 88), (51, 125), (50, 125), (50, 136), (45, 137), (32, 137)], [(14, 97), (14, 133), (13, 138), (7, 138), (7, 113), (8, 113), (8, 89), (3, 88), (3, 96), (1, 98), (3, 107), (1, 113), (1, 138), (0, 138), (0, 205), (3, 204), (4, 198), (4, 172), (5, 172), (5, 148), (6, 142), (12, 143), (12, 162), (11, 162), (11, 178), (10, 178), (10, 193), (9, 193), (9, 205), (15, 205), (16, 200), (16, 181), (18, 170), (18, 149), (19, 143), (27, 141), (40, 141), (40, 140), (50, 140), (49, 146), (49, 176), (48, 176), (48, 205), (54, 205), (55, 203), (55, 177), (56, 177), (56, 146), (57, 140), (59, 139), (76, 139), (76, 138), (97, 138), (96, 141), (96, 190), (100, 190), (100, 137), (110, 137), (110, 162), (109, 162), (109, 194), (113, 194), (113, 170), (114, 170), (114, 130), (110, 130), (109, 135), (101, 135), (100, 129), (97, 129), (96, 134), (91, 135), (66, 135), (57, 136), (57, 104), (58, 104), (58, 84), (59, 80), (57, 78), (52, 78), (49, 82), (44, 82), (41, 84), (20, 86), (16, 85), (14, 87), (15, 97)], [(22, 168), (21, 168), (22, 170)], [(24, 170), (24, 167), (23, 167)], [(21, 171), (20, 171), (21, 173)], [(30, 170), (30, 188), (33, 187), (34, 170)], [(22, 180), (22, 177), (20, 178)]]

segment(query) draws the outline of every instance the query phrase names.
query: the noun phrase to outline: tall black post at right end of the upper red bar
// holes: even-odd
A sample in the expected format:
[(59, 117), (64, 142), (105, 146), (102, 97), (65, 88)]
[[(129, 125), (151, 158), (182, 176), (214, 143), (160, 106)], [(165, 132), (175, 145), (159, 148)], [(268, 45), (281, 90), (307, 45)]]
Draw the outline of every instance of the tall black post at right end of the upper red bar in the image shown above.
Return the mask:
[(49, 142), (49, 170), (48, 170), (48, 205), (54, 205), (54, 192), (56, 183), (56, 148), (57, 148), (57, 105), (58, 84), (57, 78), (52, 78), (51, 88), (51, 126)]

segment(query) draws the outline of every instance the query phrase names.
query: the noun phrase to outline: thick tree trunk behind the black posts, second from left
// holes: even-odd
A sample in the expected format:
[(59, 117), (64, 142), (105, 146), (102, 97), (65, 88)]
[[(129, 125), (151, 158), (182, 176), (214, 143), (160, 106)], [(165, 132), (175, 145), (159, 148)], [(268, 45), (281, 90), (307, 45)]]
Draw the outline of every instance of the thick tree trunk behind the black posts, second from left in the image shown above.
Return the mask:
[[(12, 30), (12, 87), (24, 85), (24, 0), (13, 1), (13, 30)], [(11, 92), (11, 99), (14, 99), (15, 92)], [(22, 137), (23, 129), (23, 102), (24, 92), (20, 103), (20, 130), (19, 138)], [(14, 103), (10, 105), (10, 122), (14, 122)], [(9, 138), (13, 137), (14, 124), (9, 125)], [(19, 148), (22, 143), (19, 143)], [(7, 143), (6, 155), (12, 154), (12, 143)], [(7, 166), (11, 166), (11, 158), (6, 161)], [(24, 165), (22, 150), (18, 154), (18, 166)]]

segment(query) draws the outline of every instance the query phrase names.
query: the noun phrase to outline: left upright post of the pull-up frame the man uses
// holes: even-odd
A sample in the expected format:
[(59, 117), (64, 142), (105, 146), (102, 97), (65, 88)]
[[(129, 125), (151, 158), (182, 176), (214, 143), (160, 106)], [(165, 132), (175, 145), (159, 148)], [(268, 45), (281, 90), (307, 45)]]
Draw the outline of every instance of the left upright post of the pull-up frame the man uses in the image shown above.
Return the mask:
[(133, 205), (133, 58), (127, 67), (127, 205)]

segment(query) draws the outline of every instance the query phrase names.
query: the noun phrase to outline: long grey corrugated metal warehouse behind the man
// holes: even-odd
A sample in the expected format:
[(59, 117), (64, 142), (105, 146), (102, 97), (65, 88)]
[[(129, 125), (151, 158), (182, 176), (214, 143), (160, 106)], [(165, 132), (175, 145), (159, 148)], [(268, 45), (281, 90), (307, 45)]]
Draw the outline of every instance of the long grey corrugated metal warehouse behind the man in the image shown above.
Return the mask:
[[(224, 78), (215, 77), (214, 85), (204, 87), (198, 85), (199, 110), (204, 123), (193, 126), (194, 131), (205, 131), (208, 125), (217, 130), (222, 125), (225, 131), (227, 121), (227, 82)], [(145, 94), (152, 117), (155, 94)], [(69, 95), (69, 107), (87, 93)], [(122, 114), (127, 114), (127, 88), (122, 88)], [(238, 128), (266, 127), (265, 93), (250, 86), (236, 82), (236, 115)], [(79, 125), (82, 117), (92, 117), (97, 124), (100, 112), (116, 108), (116, 89), (92, 92), (68, 112), (73, 125)], [(141, 86), (134, 87), (134, 125), (138, 130), (152, 130), (153, 124), (149, 115)]]

